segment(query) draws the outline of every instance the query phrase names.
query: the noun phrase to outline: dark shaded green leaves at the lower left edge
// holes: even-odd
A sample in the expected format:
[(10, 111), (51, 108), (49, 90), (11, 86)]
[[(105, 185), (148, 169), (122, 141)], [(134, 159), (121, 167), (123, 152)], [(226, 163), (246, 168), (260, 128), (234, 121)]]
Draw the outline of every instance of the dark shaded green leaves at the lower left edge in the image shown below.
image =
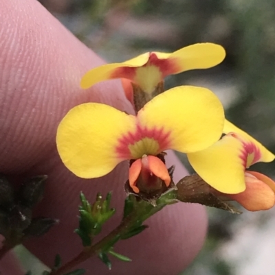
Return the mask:
[(58, 221), (46, 217), (32, 218), (32, 210), (41, 202), (47, 176), (25, 180), (19, 191), (0, 176), (0, 234), (4, 246), (12, 248), (28, 237), (44, 235)]

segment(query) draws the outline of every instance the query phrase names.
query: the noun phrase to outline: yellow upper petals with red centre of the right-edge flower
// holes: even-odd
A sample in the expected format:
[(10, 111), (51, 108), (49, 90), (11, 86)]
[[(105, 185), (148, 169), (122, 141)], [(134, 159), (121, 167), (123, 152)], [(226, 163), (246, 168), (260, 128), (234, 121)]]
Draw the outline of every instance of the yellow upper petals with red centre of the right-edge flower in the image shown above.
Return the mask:
[(225, 120), (223, 132), (226, 135), (222, 139), (206, 150), (188, 154), (188, 160), (214, 189), (227, 194), (241, 193), (253, 181), (245, 174), (245, 169), (254, 163), (271, 162), (275, 156), (229, 121)]

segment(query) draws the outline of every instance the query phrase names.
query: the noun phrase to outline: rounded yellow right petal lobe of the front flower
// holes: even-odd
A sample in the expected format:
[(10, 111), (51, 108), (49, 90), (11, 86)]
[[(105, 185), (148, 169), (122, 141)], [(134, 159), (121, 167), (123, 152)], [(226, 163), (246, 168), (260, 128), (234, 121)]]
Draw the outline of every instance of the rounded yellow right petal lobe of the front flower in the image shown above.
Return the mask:
[(157, 95), (137, 114), (148, 137), (166, 141), (159, 150), (196, 152), (218, 141), (223, 129), (224, 113), (219, 99), (210, 90), (179, 86)]

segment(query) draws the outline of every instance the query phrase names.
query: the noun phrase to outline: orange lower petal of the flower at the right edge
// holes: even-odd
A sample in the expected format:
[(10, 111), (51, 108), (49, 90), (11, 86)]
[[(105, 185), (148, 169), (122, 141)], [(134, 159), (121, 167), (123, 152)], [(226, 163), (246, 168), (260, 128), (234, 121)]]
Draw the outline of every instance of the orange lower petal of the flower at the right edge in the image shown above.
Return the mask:
[[(228, 195), (232, 200), (239, 202), (245, 209), (248, 211), (260, 211), (260, 210), (267, 210), (274, 206), (275, 204), (275, 193), (270, 188), (266, 182), (262, 181), (264, 178), (266, 180), (266, 176), (260, 174), (260, 178), (256, 178), (256, 175), (260, 173), (257, 172), (246, 172), (245, 173), (245, 191), (234, 194)], [(254, 176), (255, 175), (255, 176)], [(267, 178), (269, 183), (272, 183), (273, 180)], [(275, 187), (275, 182), (273, 182)], [(273, 188), (274, 188), (273, 187)]]

